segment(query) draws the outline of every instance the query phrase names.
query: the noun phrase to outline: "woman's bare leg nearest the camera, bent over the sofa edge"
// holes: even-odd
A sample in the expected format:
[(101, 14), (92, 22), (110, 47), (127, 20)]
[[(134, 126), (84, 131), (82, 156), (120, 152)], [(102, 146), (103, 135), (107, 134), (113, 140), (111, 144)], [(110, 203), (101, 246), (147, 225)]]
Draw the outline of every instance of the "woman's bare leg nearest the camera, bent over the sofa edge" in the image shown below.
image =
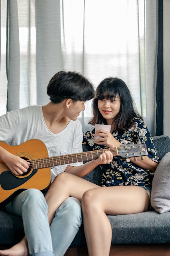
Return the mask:
[(112, 228), (106, 216), (147, 211), (150, 199), (139, 186), (100, 187), (88, 190), (82, 198), (85, 236), (89, 256), (108, 256)]

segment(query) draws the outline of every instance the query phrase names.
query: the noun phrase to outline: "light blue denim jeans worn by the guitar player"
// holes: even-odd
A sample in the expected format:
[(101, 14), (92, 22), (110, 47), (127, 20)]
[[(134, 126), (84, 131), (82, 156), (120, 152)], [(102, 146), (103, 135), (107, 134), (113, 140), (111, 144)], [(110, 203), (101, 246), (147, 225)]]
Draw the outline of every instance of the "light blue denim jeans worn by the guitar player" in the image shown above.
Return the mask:
[(82, 223), (81, 204), (69, 197), (57, 209), (49, 226), (48, 206), (43, 193), (37, 189), (21, 192), (6, 205), (6, 210), (22, 216), (31, 256), (63, 256)]

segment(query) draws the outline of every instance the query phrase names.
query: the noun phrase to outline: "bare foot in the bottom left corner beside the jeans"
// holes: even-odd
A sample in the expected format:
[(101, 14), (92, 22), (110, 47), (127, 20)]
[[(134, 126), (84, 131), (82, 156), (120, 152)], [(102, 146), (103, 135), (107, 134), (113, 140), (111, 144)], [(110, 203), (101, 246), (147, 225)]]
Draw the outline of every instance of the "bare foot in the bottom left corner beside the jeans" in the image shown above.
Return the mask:
[(26, 237), (24, 237), (19, 243), (12, 246), (10, 249), (0, 250), (0, 255), (3, 256), (28, 256), (28, 246)]

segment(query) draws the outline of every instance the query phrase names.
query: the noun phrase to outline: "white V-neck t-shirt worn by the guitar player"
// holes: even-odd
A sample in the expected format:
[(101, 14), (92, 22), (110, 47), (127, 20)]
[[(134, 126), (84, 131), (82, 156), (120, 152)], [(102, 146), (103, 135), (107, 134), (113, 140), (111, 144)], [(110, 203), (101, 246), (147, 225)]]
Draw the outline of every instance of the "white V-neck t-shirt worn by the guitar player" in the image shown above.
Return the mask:
[[(79, 120), (68, 123), (63, 131), (53, 134), (49, 131), (43, 117), (42, 106), (7, 112), (0, 117), (0, 141), (9, 145), (19, 145), (30, 139), (42, 140), (49, 156), (82, 152), (82, 125)], [(82, 162), (69, 165), (81, 165)], [(65, 171), (66, 165), (51, 168), (51, 182), (57, 174)]]

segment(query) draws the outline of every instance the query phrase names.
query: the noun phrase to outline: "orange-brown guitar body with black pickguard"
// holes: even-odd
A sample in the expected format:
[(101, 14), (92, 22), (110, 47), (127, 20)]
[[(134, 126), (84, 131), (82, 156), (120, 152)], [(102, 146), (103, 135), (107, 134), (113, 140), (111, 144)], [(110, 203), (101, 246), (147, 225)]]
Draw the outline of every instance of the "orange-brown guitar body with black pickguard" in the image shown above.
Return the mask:
[[(28, 140), (18, 146), (10, 146), (0, 141), (0, 146), (26, 161), (48, 157), (44, 142), (38, 139)], [(35, 188), (44, 192), (50, 186), (50, 182), (50, 167), (33, 169), (31, 166), (23, 175), (15, 176), (0, 160), (0, 206), (7, 204), (17, 194), (26, 189)]]

